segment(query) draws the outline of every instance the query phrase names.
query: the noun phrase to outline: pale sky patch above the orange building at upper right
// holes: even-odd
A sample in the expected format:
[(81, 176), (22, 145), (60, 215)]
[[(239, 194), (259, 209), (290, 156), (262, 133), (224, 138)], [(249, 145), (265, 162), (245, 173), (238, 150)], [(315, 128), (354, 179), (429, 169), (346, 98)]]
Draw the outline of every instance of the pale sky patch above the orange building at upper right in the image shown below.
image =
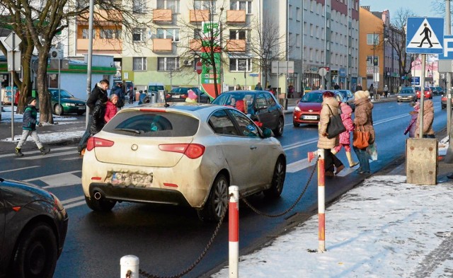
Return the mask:
[[(409, 9), (416, 16), (444, 17), (445, 14), (432, 11), (432, 6), (442, 0), (360, 0), (360, 6), (370, 6), (370, 11), (390, 11), (390, 21), (399, 8)], [(453, 8), (453, 7), (451, 7)]]

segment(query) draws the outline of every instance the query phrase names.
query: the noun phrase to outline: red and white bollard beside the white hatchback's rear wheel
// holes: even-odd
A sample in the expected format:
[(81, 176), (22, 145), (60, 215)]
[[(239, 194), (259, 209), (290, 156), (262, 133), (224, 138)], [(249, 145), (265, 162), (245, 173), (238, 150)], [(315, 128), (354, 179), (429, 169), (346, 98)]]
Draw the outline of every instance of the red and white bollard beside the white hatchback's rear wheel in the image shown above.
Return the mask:
[(228, 205), (229, 278), (239, 277), (239, 187), (231, 185)]

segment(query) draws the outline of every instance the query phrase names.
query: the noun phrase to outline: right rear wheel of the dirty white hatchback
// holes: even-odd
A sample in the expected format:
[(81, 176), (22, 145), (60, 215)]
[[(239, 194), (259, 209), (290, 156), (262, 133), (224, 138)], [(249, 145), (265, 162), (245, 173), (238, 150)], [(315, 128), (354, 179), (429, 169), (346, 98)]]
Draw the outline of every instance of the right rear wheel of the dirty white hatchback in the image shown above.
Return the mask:
[(220, 218), (228, 209), (228, 187), (228, 180), (225, 176), (223, 174), (217, 176), (205, 206), (197, 211), (198, 218), (201, 221), (220, 221)]

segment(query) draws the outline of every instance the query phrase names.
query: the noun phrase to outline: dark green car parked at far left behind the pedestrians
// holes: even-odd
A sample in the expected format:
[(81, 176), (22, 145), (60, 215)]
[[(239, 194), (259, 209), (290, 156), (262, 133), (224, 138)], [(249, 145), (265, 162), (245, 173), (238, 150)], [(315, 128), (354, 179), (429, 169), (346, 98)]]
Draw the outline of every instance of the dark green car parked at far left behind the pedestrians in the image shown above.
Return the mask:
[[(50, 102), (52, 104), (52, 112), (54, 112), (55, 115), (69, 113), (82, 115), (86, 111), (85, 100), (74, 98), (74, 95), (71, 95), (68, 91), (60, 89), (60, 103), (58, 104), (58, 88), (49, 88), (48, 90), (51, 95)], [(39, 103), (37, 103), (37, 107), (39, 107)]]

